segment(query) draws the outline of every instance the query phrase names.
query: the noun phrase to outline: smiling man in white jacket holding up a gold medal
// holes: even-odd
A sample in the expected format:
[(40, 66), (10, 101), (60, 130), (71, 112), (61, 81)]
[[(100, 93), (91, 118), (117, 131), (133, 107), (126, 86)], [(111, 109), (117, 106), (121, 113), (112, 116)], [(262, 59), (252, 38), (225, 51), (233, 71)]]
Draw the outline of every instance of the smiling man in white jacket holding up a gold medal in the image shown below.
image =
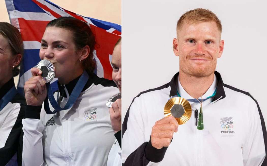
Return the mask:
[(180, 17), (173, 40), (180, 71), (133, 99), (123, 122), (124, 165), (267, 164), (257, 101), (224, 84), (215, 71), (224, 47), (221, 32), (221, 21), (209, 10)]

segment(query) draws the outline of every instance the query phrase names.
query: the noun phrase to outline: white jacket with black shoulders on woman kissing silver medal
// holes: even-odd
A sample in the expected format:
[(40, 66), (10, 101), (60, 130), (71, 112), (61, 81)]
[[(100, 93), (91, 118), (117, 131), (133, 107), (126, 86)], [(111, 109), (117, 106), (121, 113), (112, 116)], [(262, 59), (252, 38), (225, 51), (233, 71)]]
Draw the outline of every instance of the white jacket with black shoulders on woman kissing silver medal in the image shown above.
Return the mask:
[[(113, 81), (96, 75), (89, 75), (86, 86), (70, 109), (46, 114), (42, 108), (40, 120), (33, 117), (36, 110), (27, 106), (28, 118), (22, 120), (22, 165), (107, 165), (115, 137), (106, 102), (119, 90)], [(66, 89), (61, 107), (69, 98)]]

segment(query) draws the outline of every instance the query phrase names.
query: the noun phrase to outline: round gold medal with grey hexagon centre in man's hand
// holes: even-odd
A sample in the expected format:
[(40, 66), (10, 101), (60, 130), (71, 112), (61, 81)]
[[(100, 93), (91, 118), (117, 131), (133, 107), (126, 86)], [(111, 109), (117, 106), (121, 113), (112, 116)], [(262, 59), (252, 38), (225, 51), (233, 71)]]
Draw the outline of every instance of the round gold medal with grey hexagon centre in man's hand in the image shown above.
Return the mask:
[(192, 114), (190, 103), (182, 97), (173, 97), (165, 104), (164, 115), (174, 116), (179, 125), (187, 122)]

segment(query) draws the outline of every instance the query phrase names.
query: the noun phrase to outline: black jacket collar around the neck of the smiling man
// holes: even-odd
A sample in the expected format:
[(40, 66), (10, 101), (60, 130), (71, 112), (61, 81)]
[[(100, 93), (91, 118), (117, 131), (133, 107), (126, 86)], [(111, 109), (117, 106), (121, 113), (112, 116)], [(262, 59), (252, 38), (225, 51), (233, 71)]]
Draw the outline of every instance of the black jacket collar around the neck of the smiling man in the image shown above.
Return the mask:
[[(213, 99), (213, 101), (216, 101), (218, 99), (221, 100), (221, 99), (225, 98), (225, 92), (224, 92), (224, 89), (223, 89), (224, 83), (222, 81), (221, 74), (218, 73), (218, 71), (214, 71), (214, 74), (215, 74), (215, 76), (216, 76), (216, 78), (218, 80), (217, 91), (216, 91), (214, 99)], [(176, 82), (177, 82), (177, 79), (178, 79), (178, 75), (179, 75), (179, 72), (176, 73), (172, 77), (172, 79), (171, 79), (171, 81), (169, 83), (170, 87), (171, 87), (170, 97), (176, 95), (176, 87), (177, 87)]]

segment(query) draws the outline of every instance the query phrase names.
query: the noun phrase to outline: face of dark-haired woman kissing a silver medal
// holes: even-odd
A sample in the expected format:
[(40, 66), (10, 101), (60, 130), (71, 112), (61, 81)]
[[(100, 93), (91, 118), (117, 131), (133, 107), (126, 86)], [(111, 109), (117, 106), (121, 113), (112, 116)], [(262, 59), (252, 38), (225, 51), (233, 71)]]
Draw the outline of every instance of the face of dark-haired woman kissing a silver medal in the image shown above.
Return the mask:
[(72, 32), (67, 29), (47, 27), (41, 40), (40, 58), (53, 63), (58, 80), (72, 80), (81, 74), (77, 72), (82, 66), (72, 37)]

